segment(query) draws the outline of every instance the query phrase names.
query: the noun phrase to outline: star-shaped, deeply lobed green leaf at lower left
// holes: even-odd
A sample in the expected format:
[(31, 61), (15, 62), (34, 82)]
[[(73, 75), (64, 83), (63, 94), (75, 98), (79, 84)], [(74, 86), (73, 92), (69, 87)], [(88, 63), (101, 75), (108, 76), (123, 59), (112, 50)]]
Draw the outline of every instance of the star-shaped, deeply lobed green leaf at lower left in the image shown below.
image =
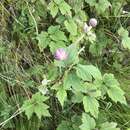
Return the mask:
[(21, 109), (25, 111), (28, 119), (31, 118), (33, 113), (36, 113), (39, 119), (41, 119), (42, 116), (49, 117), (51, 116), (48, 111), (49, 106), (43, 103), (47, 99), (48, 97), (41, 95), (40, 93), (36, 93), (30, 100), (26, 100), (24, 102)]

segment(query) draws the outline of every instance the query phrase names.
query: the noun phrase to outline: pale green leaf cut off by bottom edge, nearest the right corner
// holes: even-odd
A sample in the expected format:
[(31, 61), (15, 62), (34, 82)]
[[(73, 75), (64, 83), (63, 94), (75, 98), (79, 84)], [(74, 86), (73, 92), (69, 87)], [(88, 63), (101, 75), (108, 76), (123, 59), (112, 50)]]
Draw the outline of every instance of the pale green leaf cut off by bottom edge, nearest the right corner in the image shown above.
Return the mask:
[(120, 130), (119, 128), (116, 128), (117, 124), (114, 122), (105, 122), (101, 125), (100, 130)]

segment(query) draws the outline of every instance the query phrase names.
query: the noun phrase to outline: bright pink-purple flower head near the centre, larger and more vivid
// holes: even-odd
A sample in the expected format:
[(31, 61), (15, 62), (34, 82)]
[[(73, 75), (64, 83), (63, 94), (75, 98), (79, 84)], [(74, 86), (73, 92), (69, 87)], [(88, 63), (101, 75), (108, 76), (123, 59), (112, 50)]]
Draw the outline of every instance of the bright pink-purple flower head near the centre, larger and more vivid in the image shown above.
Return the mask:
[(66, 53), (66, 51), (63, 48), (59, 48), (56, 50), (54, 57), (56, 60), (66, 60), (68, 55)]

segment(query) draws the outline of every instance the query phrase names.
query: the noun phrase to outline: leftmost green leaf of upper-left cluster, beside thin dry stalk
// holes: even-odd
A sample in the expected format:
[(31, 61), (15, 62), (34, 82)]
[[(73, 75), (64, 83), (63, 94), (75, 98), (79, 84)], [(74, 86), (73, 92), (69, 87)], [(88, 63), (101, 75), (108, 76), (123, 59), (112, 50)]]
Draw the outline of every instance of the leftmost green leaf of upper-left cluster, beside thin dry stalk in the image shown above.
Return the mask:
[(38, 40), (38, 46), (41, 51), (43, 51), (43, 49), (46, 48), (47, 45), (49, 45), (49, 43), (50, 43), (50, 38), (49, 38), (47, 32), (41, 32), (37, 36), (37, 40)]

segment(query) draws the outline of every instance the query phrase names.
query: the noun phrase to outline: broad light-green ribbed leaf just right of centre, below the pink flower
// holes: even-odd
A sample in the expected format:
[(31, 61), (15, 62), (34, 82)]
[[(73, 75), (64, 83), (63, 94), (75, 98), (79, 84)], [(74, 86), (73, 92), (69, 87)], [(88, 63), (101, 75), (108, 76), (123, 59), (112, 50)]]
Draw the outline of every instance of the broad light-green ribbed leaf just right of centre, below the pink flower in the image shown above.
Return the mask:
[(86, 81), (92, 81), (92, 77), (94, 79), (102, 79), (101, 72), (93, 65), (81, 65), (79, 64), (76, 67), (77, 75)]

